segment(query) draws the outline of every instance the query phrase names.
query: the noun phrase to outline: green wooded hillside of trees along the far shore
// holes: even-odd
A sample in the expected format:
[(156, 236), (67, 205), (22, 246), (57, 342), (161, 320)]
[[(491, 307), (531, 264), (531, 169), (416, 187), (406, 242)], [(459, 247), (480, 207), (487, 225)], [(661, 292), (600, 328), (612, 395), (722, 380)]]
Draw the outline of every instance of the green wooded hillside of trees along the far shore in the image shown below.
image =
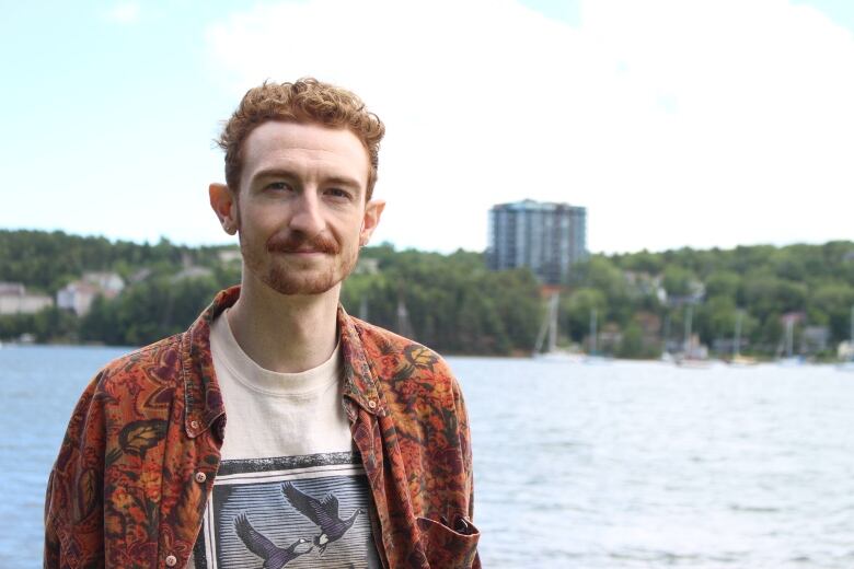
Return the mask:
[[(62, 232), (0, 231), (0, 281), (55, 295), (84, 271), (115, 271), (129, 284), (99, 298), (85, 317), (56, 307), (0, 316), (0, 339), (23, 333), (39, 341), (137, 346), (185, 329), (216, 291), (240, 281), (240, 264), (220, 260), (229, 247), (188, 247), (166, 240), (138, 244)], [(442, 255), (366, 247), (344, 284), (353, 315), (412, 335), (446, 353), (530, 353), (544, 316), (540, 283), (528, 269), (489, 271), (482, 253)], [(182, 276), (187, 266), (209, 269)], [(376, 270), (372, 270), (376, 268)], [(771, 357), (795, 318), (796, 346), (808, 327), (828, 330), (826, 353), (849, 338), (854, 305), (854, 242), (822, 245), (682, 248), (591, 255), (561, 287), (561, 344), (590, 346), (591, 316), (600, 350), (658, 357), (683, 341), (690, 306), (702, 342), (731, 349), (739, 314), (741, 351)]]

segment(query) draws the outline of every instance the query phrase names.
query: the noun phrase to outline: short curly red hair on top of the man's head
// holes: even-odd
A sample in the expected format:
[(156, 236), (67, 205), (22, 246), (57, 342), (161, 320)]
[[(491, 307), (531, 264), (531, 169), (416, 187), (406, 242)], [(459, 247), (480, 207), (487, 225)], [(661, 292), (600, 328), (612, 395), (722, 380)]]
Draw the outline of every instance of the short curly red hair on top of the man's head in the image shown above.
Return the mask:
[(226, 123), (217, 144), (226, 151), (226, 183), (236, 195), (246, 137), (262, 123), (282, 120), (347, 128), (365, 144), (370, 159), (367, 199), (373, 194), (380, 140), (385, 126), (354, 93), (314, 78), (293, 83), (267, 83), (250, 89)]

